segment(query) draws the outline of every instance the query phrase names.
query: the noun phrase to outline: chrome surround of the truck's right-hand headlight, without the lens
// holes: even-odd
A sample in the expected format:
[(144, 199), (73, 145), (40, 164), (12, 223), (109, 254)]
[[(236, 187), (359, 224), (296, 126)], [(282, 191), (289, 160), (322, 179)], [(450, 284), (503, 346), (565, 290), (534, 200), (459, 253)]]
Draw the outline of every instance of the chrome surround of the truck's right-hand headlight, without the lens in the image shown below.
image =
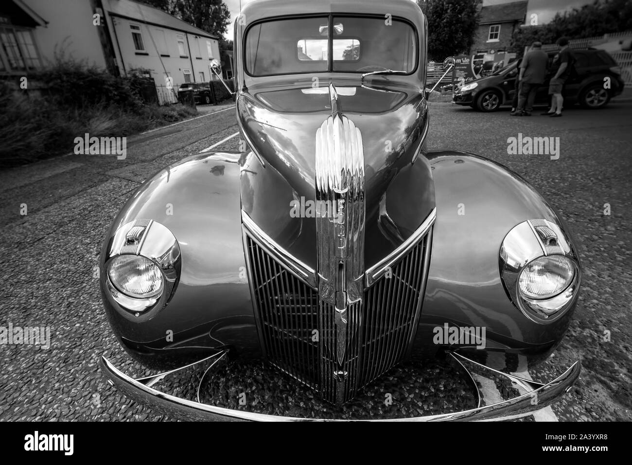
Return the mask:
[[(573, 276), (561, 292), (532, 299), (520, 290), (518, 280), (526, 266), (542, 257), (567, 257)], [(549, 220), (523, 221), (507, 233), (499, 251), (499, 269), (507, 296), (525, 316), (536, 323), (552, 323), (573, 306), (581, 283), (581, 266), (568, 233)]]

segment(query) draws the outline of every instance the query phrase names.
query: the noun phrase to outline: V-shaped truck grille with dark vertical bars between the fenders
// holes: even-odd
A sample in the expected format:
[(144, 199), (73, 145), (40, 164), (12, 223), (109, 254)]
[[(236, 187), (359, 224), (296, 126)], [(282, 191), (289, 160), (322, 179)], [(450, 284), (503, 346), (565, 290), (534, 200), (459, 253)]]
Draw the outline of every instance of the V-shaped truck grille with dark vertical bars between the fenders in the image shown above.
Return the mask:
[[(415, 335), (427, 276), (431, 233), (392, 264), (348, 309), (343, 372), (336, 362), (334, 305), (289, 272), (246, 230), (253, 301), (270, 363), (324, 399), (343, 403), (406, 356)], [(316, 330), (316, 332), (314, 331)]]

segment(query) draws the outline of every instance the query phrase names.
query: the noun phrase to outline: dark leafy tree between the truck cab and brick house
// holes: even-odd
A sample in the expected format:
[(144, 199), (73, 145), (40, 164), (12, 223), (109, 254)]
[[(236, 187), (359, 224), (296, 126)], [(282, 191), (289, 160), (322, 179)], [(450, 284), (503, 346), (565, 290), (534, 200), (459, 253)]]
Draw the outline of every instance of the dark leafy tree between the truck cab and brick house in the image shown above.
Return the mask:
[(470, 51), (479, 0), (418, 0), (428, 18), (428, 56), (435, 61)]

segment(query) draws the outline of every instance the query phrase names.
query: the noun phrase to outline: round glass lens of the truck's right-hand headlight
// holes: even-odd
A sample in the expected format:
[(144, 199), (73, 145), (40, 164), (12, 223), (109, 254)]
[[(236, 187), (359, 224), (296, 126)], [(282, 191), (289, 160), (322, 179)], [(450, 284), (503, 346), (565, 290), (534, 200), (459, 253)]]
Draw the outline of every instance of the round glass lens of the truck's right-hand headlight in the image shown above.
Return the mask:
[(528, 299), (550, 299), (569, 286), (573, 275), (573, 262), (568, 257), (540, 257), (525, 266), (518, 285)]

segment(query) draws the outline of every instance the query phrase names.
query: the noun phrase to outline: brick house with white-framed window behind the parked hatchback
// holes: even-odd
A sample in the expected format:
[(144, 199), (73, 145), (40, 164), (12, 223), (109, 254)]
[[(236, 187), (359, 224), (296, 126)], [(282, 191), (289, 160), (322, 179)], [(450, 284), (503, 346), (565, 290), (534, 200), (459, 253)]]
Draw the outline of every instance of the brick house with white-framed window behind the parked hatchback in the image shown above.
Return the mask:
[(511, 45), (514, 31), (525, 24), (528, 1), (483, 6), (471, 47), (473, 53), (499, 53)]

